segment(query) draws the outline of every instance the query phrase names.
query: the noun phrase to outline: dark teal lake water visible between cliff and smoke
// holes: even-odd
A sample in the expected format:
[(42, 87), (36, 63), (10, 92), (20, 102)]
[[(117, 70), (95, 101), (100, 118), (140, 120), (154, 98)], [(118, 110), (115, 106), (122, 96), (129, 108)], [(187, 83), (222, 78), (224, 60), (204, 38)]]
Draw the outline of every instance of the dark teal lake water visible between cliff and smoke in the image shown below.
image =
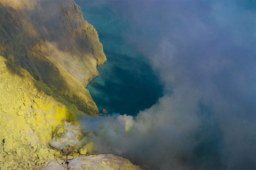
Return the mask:
[(123, 35), (127, 25), (107, 4), (76, 1), (84, 19), (98, 31), (108, 62), (98, 67), (99, 76), (87, 89), (100, 112), (136, 115), (163, 95), (163, 86), (145, 56), (128, 46)]

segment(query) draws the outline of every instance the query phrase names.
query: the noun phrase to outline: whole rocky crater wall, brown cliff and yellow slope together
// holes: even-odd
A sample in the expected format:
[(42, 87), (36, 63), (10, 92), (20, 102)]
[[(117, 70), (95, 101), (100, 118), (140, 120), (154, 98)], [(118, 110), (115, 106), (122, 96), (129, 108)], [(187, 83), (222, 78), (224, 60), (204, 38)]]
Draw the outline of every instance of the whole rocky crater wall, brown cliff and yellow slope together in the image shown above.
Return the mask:
[[(60, 169), (63, 153), (49, 143), (64, 140), (81, 116), (98, 115), (84, 86), (104, 62), (98, 34), (73, 0), (0, 0), (1, 170)], [(139, 169), (113, 155), (86, 157), (92, 147), (79, 150), (89, 144), (68, 156), (73, 169)]]

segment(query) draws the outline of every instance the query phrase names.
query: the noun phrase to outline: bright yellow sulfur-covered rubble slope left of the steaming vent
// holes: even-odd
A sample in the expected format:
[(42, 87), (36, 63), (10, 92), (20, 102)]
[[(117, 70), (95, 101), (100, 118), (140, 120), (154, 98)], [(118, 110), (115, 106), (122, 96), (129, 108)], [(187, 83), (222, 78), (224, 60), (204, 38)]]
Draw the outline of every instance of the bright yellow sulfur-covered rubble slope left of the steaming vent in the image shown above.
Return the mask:
[(49, 147), (53, 130), (86, 114), (60, 96), (45, 94), (47, 87), (26, 70), (13, 65), (17, 75), (5, 63), (0, 56), (1, 169), (29, 169), (44, 164), (41, 159), (62, 156)]

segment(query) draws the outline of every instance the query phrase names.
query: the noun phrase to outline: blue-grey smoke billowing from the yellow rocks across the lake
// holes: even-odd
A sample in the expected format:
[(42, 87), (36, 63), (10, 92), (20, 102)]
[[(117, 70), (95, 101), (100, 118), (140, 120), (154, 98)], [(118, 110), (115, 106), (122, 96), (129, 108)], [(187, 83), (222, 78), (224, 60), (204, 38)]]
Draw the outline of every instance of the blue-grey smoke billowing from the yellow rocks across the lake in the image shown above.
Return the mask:
[(255, 169), (255, 1), (92, 5), (129, 24), (125, 43), (149, 59), (164, 96), (135, 117), (84, 117), (52, 145), (92, 141), (151, 169)]

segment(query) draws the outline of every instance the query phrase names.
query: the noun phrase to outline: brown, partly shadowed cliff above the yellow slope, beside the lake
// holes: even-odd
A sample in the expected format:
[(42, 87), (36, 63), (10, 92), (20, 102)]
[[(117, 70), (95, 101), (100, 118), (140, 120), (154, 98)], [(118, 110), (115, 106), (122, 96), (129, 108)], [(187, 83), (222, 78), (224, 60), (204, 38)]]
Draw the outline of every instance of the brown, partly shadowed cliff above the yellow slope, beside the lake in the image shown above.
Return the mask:
[(107, 59), (97, 31), (73, 0), (0, 0), (0, 55), (7, 67), (18, 64), (51, 88), (51, 96), (99, 113), (84, 86)]

